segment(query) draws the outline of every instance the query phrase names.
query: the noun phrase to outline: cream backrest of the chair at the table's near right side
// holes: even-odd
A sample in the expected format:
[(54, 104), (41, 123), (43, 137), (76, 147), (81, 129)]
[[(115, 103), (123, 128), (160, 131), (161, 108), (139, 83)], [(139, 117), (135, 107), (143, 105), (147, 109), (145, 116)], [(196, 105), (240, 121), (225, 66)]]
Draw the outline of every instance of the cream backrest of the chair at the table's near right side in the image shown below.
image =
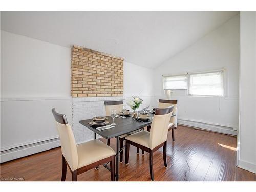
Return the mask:
[(173, 113), (173, 106), (168, 108), (157, 108), (154, 118), (151, 123), (150, 129), (150, 148), (153, 149), (156, 146), (167, 140), (168, 126), (170, 122), (170, 116)]

